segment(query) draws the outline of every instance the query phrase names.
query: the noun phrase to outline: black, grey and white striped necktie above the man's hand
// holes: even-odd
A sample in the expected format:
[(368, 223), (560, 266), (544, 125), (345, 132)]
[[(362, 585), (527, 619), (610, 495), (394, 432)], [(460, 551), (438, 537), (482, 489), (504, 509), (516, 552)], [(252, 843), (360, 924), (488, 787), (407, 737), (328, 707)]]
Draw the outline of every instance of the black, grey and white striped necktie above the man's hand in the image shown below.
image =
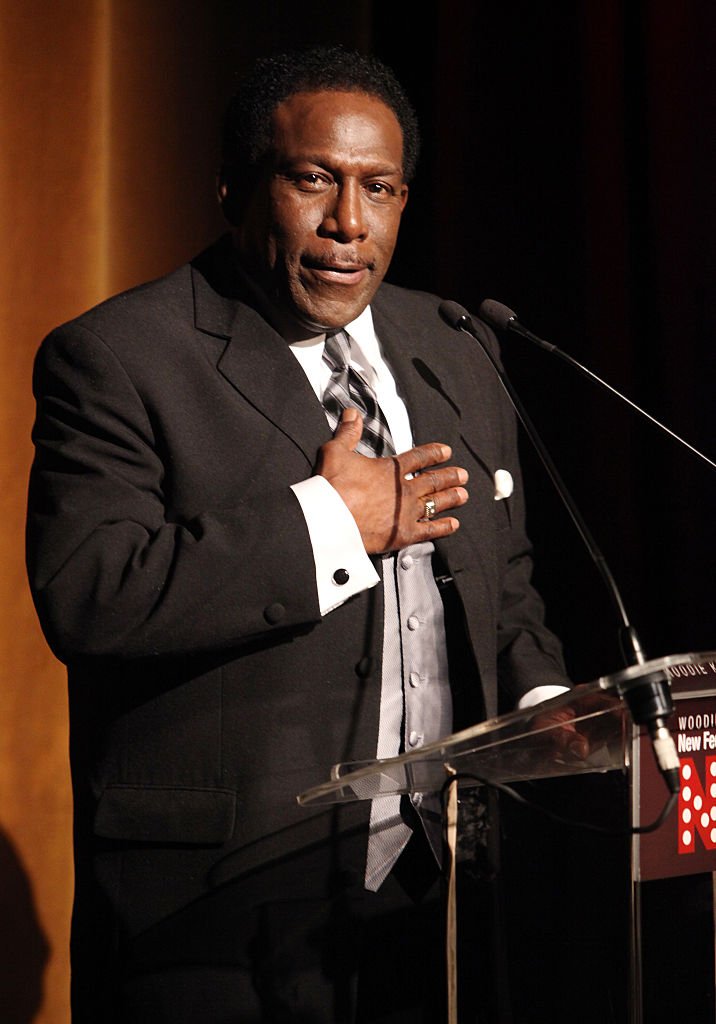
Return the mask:
[(350, 341), (345, 331), (327, 335), (324, 359), (331, 368), (331, 379), (323, 397), (331, 428), (335, 431), (344, 409), (357, 409), (363, 416), (363, 436), (355, 451), (367, 456), (394, 455), (390, 427), (375, 392), (350, 366)]

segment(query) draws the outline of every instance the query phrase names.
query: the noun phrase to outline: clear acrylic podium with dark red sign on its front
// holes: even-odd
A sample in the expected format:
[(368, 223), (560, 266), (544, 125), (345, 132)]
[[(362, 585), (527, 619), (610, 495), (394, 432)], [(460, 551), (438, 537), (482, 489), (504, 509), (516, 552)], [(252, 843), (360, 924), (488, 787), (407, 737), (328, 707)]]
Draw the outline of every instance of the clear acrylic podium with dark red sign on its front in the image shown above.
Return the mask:
[[(658, 831), (649, 836), (635, 835), (631, 840), (628, 865), (630, 886), (629, 892), (624, 893), (624, 900), (630, 903), (630, 934), (624, 944), (630, 961), (626, 992), (628, 1006), (622, 1008), (623, 1013), (617, 1014), (614, 1019), (628, 1021), (629, 1024), (643, 1024), (644, 1021), (651, 1024), (656, 1017), (650, 1012), (644, 1016), (644, 992), (649, 984), (648, 979), (644, 980), (646, 954), (642, 925), (645, 884), (677, 876), (682, 880), (688, 879), (691, 873), (703, 876), (706, 872), (713, 878), (712, 872), (716, 870), (715, 653), (677, 654), (650, 660), (577, 686), (534, 708), (482, 722), (401, 757), (334, 765), (329, 779), (300, 794), (298, 802), (306, 807), (317, 807), (374, 800), (386, 795), (437, 794), (452, 780), (457, 782), (458, 787), (464, 787), (475, 786), (482, 781), (520, 783), (558, 776), (619, 772), (624, 778), (626, 791), (623, 827), (627, 830), (643, 826), (658, 817), (669, 793), (654, 763), (648, 736), (643, 728), (633, 724), (625, 695), (631, 687), (639, 685), (640, 680), (652, 674), (664, 678), (670, 685), (676, 707), (671, 731), (678, 741), (679, 756), (682, 752), (689, 754), (685, 769), (687, 774), (693, 771), (693, 781), (702, 781), (699, 782), (701, 796), (697, 794), (694, 797), (691, 793), (691, 788), (696, 792), (696, 787), (683, 787), (691, 800), (688, 807), (682, 793), (678, 809), (669, 815)], [(696, 714), (691, 713), (691, 706)], [(555, 741), (555, 730), (563, 729), (563, 722), (557, 721), (560, 718), (557, 713), (564, 711), (568, 712), (572, 724), (587, 740), (586, 753), (584, 749), (580, 753)], [(709, 746), (712, 740), (708, 739), (711, 732), (707, 729), (707, 723), (711, 722), (713, 749)], [(703, 735), (705, 730), (706, 738)], [(703, 750), (696, 751), (697, 745), (702, 746), (699, 735), (702, 735)], [(709, 756), (709, 750), (713, 757)], [(690, 755), (697, 753), (702, 755), (700, 764), (690, 759)], [(686, 761), (682, 760), (682, 772), (685, 764)], [(699, 813), (702, 823), (697, 821), (691, 825), (693, 850), (690, 852), (700, 856), (689, 859), (689, 850), (684, 849), (684, 820), (691, 813)], [(713, 828), (707, 825), (706, 815), (711, 817)], [(584, 813), (580, 816), (586, 817)], [(696, 833), (699, 833), (699, 838)], [(712, 891), (711, 885), (709, 891)], [(667, 905), (673, 926), (674, 914), (678, 916), (679, 913), (678, 896), (675, 900), (667, 900)], [(711, 927), (706, 928), (704, 942), (711, 943), (710, 961), (713, 963), (713, 904), (711, 911)], [(656, 952), (651, 949), (654, 937), (650, 932), (646, 938), (651, 950), (648, 955), (659, 957), (659, 948), (655, 947)], [(649, 966), (646, 974), (649, 975), (651, 970), (655, 968)], [(711, 978), (705, 982), (703, 998), (697, 997), (704, 1002), (703, 1016), (697, 1013), (682, 1017), (683, 1020), (688, 1019), (693, 1024), (714, 1020), (713, 988), (712, 971)]]

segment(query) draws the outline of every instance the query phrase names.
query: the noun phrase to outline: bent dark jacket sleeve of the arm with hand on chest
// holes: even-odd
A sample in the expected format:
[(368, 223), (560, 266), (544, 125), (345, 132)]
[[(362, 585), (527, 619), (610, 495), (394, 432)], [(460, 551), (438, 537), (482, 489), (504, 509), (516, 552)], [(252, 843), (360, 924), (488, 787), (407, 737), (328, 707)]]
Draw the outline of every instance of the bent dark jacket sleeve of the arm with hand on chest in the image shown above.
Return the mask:
[(115, 353), (77, 323), (46, 339), (34, 391), (28, 567), (57, 656), (217, 651), (319, 621), (284, 479), (266, 474), (250, 505), (167, 516), (171, 452)]

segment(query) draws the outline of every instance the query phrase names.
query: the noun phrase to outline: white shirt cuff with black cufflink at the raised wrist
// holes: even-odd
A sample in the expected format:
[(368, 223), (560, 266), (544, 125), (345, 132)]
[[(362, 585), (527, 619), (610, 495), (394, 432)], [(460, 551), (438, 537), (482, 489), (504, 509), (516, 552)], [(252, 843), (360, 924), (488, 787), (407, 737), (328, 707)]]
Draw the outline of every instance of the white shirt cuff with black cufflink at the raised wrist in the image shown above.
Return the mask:
[(311, 476), (291, 489), (308, 527), (315, 561), (321, 614), (343, 604), (353, 594), (380, 583), (363, 546), (355, 520), (335, 487), (323, 476)]

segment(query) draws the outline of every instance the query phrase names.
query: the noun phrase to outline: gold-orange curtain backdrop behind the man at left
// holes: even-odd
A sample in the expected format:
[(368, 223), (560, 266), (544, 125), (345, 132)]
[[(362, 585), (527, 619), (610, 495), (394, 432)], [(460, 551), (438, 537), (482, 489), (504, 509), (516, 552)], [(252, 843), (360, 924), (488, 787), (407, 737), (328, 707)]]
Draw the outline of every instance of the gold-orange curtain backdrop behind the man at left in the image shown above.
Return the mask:
[(220, 229), (218, 33), (211, 4), (0, 2), (4, 1024), (69, 1020), (66, 673), (40, 633), (24, 561), (33, 357), (52, 327), (171, 269)]

